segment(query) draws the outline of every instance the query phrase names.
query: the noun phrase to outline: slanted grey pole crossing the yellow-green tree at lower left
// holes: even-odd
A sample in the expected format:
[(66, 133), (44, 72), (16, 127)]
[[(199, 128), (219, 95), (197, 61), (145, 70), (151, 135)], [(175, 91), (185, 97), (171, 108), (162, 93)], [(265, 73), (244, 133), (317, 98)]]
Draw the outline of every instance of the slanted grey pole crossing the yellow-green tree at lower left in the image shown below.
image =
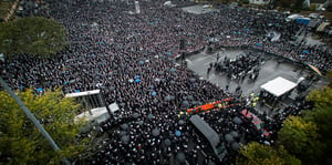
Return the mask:
[[(44, 130), (44, 127), (39, 123), (39, 121), (34, 117), (34, 115), (29, 111), (29, 109), (24, 105), (24, 103), (14, 94), (14, 92), (7, 85), (7, 83), (0, 78), (0, 84), (2, 87), (14, 99), (14, 101), (20, 105), (21, 110), (25, 113), (29, 120), (32, 121), (32, 123), (35, 125), (35, 127), (39, 130), (39, 132), (49, 141), (51, 146), (55, 152), (60, 152), (60, 147), (56, 145), (56, 143), (53, 141), (53, 138), (50, 136), (50, 134)], [(65, 163), (65, 165), (70, 165), (70, 162), (66, 159), (66, 157), (63, 157), (62, 161)]]

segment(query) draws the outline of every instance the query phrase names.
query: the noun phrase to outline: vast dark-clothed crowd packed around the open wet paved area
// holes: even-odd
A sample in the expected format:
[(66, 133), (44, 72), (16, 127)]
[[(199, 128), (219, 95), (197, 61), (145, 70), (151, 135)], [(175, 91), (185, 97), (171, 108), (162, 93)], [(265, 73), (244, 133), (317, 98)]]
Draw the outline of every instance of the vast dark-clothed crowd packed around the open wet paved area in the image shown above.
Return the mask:
[[(106, 137), (90, 157), (82, 157), (87, 164), (168, 164), (173, 159), (179, 164), (185, 159), (189, 164), (218, 162), (210, 154), (208, 142), (180, 112), (234, 97), (234, 94), (200, 80), (193, 71), (176, 63), (181, 39), (186, 41), (186, 52), (201, 50), (209, 38), (218, 38), (219, 45), (259, 49), (315, 65), (322, 72), (332, 66), (330, 49), (289, 42), (300, 27), (286, 22), (287, 16), (281, 12), (222, 4), (216, 7), (216, 12), (191, 14), (180, 8), (164, 7), (164, 1), (141, 1), (142, 13), (131, 14), (133, 2), (46, 2), (50, 16), (68, 29), (70, 45), (52, 60), (21, 54), (1, 61), (1, 76), (14, 90), (44, 91), (62, 86), (64, 93), (72, 93), (100, 89), (106, 104), (116, 102), (121, 105), (120, 114), (97, 128)], [(184, 1), (174, 3), (186, 4)], [(266, 31), (278, 31), (280, 40), (267, 40)], [(228, 59), (224, 61), (235, 76), (240, 76), (241, 68), (248, 69), (250, 64), (253, 69), (261, 62), (259, 58), (250, 63), (246, 63), (246, 56), (239, 60), (242, 62), (237, 70)], [(251, 107), (249, 97), (236, 97), (236, 106), (199, 113), (225, 142), (228, 154), (222, 162), (227, 164), (234, 163), (238, 149), (235, 143), (240, 138), (273, 144), (274, 132), (281, 127), (282, 120), (310, 106), (299, 100), (270, 118)], [(250, 123), (234, 121), (241, 116), (239, 112), (243, 109), (264, 122), (269, 137)], [(232, 133), (234, 140), (226, 140), (224, 135), (231, 132), (238, 135)]]

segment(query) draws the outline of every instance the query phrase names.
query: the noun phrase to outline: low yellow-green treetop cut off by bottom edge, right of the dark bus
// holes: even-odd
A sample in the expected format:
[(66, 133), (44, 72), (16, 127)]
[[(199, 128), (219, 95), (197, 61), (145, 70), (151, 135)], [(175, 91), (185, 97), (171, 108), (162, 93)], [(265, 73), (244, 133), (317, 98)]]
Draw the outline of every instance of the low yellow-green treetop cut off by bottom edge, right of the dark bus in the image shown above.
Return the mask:
[(237, 164), (241, 165), (300, 165), (301, 162), (288, 154), (288, 152), (280, 146), (274, 149), (271, 146), (262, 145), (257, 142), (249, 143), (241, 147), (241, 158), (237, 158)]

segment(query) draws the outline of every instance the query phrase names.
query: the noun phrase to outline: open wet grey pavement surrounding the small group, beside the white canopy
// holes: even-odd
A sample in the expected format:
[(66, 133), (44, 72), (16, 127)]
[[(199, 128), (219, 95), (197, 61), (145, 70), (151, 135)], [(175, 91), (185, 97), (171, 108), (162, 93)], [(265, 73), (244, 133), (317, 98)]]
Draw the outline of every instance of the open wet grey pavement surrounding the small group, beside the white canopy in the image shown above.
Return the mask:
[(222, 89), (225, 89), (228, 84), (231, 92), (234, 92), (236, 87), (240, 85), (245, 95), (249, 95), (250, 92), (258, 93), (262, 84), (276, 79), (277, 76), (282, 76), (292, 82), (297, 82), (299, 78), (305, 78), (310, 73), (310, 71), (303, 70), (300, 65), (288, 61), (282, 61), (280, 63), (276, 56), (255, 51), (253, 54), (263, 55), (266, 61), (261, 66), (258, 79), (253, 82), (248, 81), (248, 76), (246, 76), (242, 82), (230, 80), (225, 73), (216, 72), (215, 70), (212, 70), (209, 75), (207, 74), (209, 63), (216, 62), (217, 53), (220, 54), (220, 61), (224, 60), (225, 56), (228, 56), (229, 59), (236, 58), (239, 54), (243, 54), (245, 51), (246, 50), (226, 50), (224, 52), (218, 51), (212, 54), (207, 54), (205, 51), (203, 51), (198, 54), (187, 56), (186, 61), (188, 68), (198, 73), (203, 79), (207, 79), (209, 82)]

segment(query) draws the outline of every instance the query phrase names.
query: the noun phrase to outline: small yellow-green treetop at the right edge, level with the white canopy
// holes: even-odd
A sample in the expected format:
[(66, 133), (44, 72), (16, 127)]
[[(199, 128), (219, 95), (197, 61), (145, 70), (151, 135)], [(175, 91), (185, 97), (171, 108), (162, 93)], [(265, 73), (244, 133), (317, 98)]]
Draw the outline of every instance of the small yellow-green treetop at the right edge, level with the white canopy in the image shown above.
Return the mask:
[(310, 92), (307, 100), (313, 101), (315, 109), (332, 106), (332, 89), (325, 86), (321, 90), (313, 90)]

